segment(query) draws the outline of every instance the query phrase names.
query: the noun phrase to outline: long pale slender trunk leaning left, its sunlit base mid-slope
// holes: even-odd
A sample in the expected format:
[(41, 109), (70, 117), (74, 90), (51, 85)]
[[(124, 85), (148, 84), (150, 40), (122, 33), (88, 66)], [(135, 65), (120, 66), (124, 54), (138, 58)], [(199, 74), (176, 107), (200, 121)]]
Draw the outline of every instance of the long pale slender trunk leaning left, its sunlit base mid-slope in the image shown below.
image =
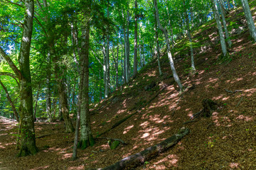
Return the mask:
[(178, 78), (178, 74), (176, 73), (176, 69), (175, 69), (175, 66), (174, 66), (174, 60), (171, 56), (171, 47), (170, 47), (170, 42), (169, 42), (169, 37), (168, 37), (168, 30), (166, 30), (166, 28), (161, 26), (161, 23), (160, 23), (160, 20), (159, 20), (159, 11), (158, 11), (158, 8), (157, 8), (157, 0), (154, 0), (154, 8), (155, 8), (155, 11), (156, 11), (156, 21), (158, 23), (158, 26), (159, 26), (160, 30), (164, 33), (164, 37), (165, 37), (165, 40), (166, 40), (167, 53), (168, 53), (168, 58), (169, 58), (169, 62), (170, 62), (170, 65), (171, 65), (171, 72), (174, 76), (174, 80), (178, 84), (178, 87), (179, 87), (180, 91), (183, 91), (183, 86), (181, 84), (180, 79)]

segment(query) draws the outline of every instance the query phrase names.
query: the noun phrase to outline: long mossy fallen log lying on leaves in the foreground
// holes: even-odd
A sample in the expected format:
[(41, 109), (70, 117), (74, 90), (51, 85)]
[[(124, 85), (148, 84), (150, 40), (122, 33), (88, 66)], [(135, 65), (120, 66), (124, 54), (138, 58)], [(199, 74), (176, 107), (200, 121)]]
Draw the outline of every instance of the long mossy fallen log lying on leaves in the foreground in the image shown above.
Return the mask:
[(144, 164), (144, 162), (149, 161), (152, 157), (156, 157), (161, 152), (166, 151), (169, 147), (176, 145), (176, 143), (181, 140), (185, 135), (188, 135), (188, 128), (181, 128), (177, 134), (169, 137), (158, 145), (154, 145), (152, 147), (144, 149), (144, 151), (139, 152), (137, 154), (133, 154), (129, 157), (125, 157), (124, 159), (103, 168), (102, 170), (121, 170), (121, 169), (132, 169), (139, 164)]

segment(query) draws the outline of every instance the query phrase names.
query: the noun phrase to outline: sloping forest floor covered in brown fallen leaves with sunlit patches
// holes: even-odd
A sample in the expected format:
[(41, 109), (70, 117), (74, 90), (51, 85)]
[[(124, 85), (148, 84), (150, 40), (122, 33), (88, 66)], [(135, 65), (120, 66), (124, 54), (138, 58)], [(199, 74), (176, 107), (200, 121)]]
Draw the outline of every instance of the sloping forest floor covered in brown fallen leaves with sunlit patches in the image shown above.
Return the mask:
[[(209, 35), (214, 44), (217, 29), (205, 31), (207, 34), (198, 34)], [(215, 38), (210, 37), (213, 35)], [(129, 84), (92, 108), (95, 136), (137, 111), (101, 136), (118, 138), (128, 144), (114, 150), (107, 145), (107, 140), (96, 138), (94, 147), (79, 149), (79, 158), (72, 161), (74, 134), (65, 133), (62, 122), (36, 123), (39, 152), (16, 157), (16, 122), (0, 118), (0, 169), (103, 168), (156, 145), (183, 126), (191, 130), (190, 134), (136, 169), (256, 169), (256, 45), (247, 30), (234, 35), (232, 42), (228, 63), (217, 62), (220, 44), (199, 49), (195, 55), (197, 74), (189, 73), (189, 57), (176, 57), (178, 75), (184, 86), (191, 87), (183, 94), (179, 94), (178, 86), (169, 76), (168, 58), (163, 56), (164, 76), (159, 77), (157, 63), (151, 62)], [(202, 49), (205, 51), (200, 52)], [(145, 90), (149, 84), (156, 86)], [(163, 87), (166, 88), (153, 101), (144, 105)], [(236, 90), (239, 91), (230, 93)], [(197, 121), (183, 125), (193, 113), (201, 111), (204, 98), (217, 102), (218, 109), (210, 118), (196, 118)]]

